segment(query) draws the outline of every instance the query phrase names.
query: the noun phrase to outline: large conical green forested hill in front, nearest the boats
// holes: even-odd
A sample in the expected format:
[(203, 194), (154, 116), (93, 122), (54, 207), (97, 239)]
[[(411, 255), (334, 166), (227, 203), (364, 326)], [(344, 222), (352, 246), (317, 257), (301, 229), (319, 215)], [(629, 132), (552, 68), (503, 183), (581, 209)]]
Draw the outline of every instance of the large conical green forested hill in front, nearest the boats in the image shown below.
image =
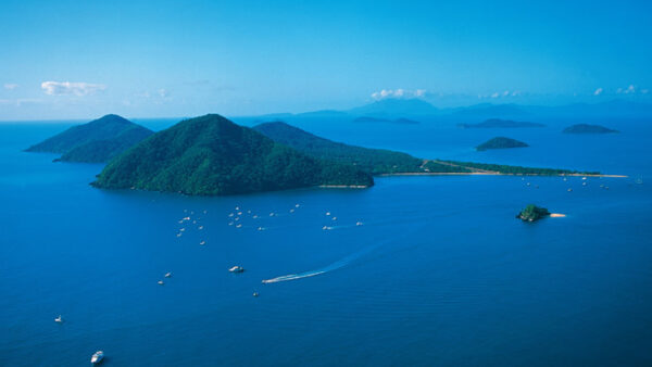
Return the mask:
[(353, 165), (309, 156), (220, 115), (154, 134), (112, 160), (93, 182), (206, 195), (373, 184)]

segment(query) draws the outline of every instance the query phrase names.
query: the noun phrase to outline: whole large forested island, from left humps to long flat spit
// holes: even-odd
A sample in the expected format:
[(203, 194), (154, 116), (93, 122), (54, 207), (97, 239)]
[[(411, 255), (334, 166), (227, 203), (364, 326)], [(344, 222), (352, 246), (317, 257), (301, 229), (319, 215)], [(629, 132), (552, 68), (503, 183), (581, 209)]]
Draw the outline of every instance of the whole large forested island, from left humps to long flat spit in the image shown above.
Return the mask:
[(71, 128), (29, 151), (63, 152), (62, 160), (82, 162), (102, 162), (113, 156), (92, 182), (98, 188), (205, 195), (313, 186), (369, 187), (374, 175), (579, 174), (423, 160), (335, 142), (281, 122), (242, 127), (216, 114), (186, 119), (156, 134), (108, 115)]

